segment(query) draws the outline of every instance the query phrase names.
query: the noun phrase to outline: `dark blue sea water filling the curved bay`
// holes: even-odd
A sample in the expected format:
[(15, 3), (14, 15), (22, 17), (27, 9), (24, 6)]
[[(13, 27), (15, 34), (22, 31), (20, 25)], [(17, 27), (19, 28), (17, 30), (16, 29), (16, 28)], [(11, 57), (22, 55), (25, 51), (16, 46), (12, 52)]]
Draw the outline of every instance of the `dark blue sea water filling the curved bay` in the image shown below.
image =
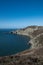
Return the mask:
[(16, 54), (30, 48), (30, 45), (27, 45), (29, 37), (6, 34), (9, 31), (12, 29), (0, 29), (0, 56)]

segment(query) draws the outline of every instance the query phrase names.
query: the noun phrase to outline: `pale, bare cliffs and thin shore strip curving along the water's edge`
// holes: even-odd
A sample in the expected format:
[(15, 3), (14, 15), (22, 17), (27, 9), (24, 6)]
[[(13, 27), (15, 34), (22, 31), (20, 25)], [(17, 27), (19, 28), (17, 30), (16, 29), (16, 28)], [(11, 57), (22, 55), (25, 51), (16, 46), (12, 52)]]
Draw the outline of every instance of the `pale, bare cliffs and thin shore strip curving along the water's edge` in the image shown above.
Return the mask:
[[(30, 38), (29, 42), (27, 43), (27, 45), (31, 44), (30, 49), (26, 49), (26, 50), (21, 51), (21, 52), (18, 52), (16, 54), (19, 54), (19, 53), (22, 53), (22, 52), (26, 52), (27, 50), (31, 50), (31, 49), (34, 49), (35, 48), (34, 47), (34, 41), (35, 41), (34, 38), (35, 37), (33, 37), (32, 34), (30, 34), (30, 33), (33, 33), (37, 29), (38, 29), (38, 27), (36, 27), (35, 29), (29, 27), (29, 29), (28, 29), (29, 30), (29, 33), (27, 33), (27, 31), (24, 32), (24, 29), (16, 30), (16, 31), (10, 31), (9, 32), (9, 34), (22, 35), (22, 36), (26, 36), (26, 37), (29, 37)], [(12, 54), (12, 55), (16, 55), (16, 54)], [(10, 55), (10, 56), (12, 56), (12, 55)]]

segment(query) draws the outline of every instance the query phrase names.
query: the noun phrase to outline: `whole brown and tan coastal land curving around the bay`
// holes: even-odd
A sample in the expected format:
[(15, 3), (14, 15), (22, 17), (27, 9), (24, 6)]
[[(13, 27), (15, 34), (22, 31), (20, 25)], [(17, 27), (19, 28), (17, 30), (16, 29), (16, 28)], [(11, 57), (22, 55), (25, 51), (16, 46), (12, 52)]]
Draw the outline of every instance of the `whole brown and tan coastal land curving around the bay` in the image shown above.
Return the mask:
[(28, 26), (9, 32), (30, 37), (30, 49), (15, 55), (0, 57), (0, 65), (43, 65), (43, 26)]

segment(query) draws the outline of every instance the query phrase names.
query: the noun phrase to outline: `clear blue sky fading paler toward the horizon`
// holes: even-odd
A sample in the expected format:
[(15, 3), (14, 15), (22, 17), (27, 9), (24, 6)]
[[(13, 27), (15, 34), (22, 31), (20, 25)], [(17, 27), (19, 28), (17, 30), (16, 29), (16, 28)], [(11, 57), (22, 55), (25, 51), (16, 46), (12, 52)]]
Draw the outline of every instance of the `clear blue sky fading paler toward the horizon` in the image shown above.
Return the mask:
[(0, 28), (43, 26), (43, 0), (0, 0)]

